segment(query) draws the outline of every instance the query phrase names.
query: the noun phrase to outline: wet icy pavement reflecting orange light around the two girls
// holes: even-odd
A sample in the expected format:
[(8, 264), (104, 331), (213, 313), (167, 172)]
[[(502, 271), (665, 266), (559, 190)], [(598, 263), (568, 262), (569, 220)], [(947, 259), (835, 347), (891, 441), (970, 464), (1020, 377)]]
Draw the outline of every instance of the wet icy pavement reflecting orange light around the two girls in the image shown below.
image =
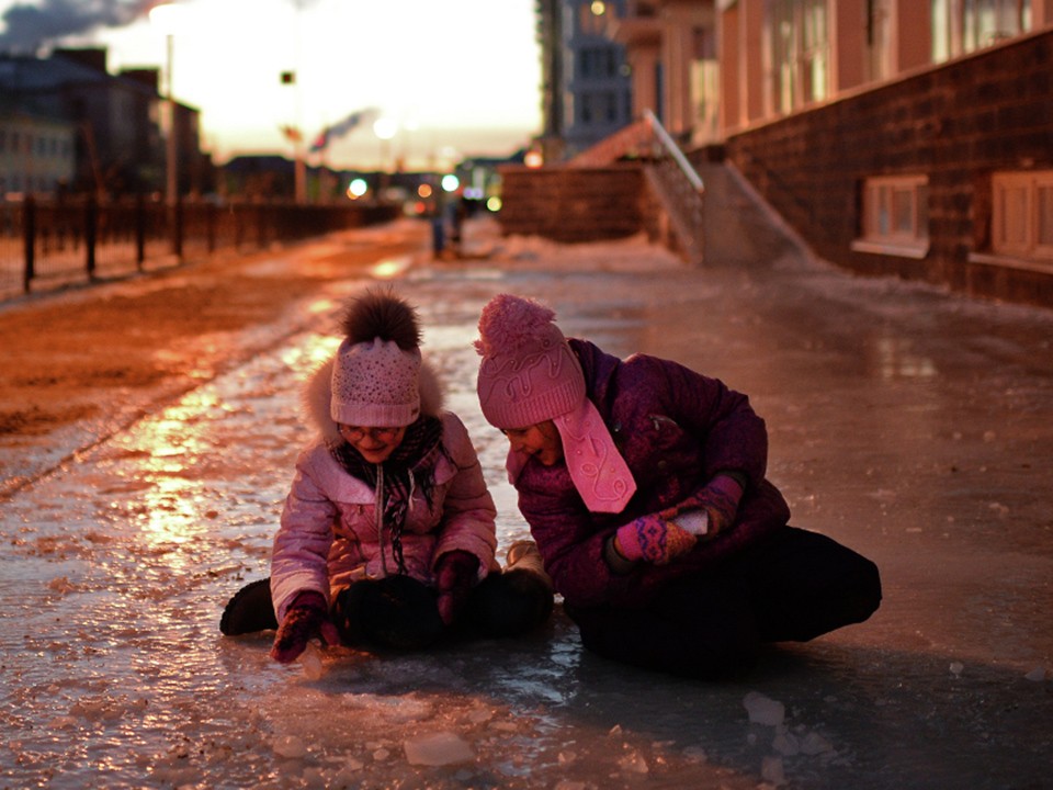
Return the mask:
[(874, 558), (881, 610), (725, 684), (586, 654), (559, 612), (525, 639), (290, 667), (267, 635), (222, 637), (226, 599), (267, 575), (299, 381), (335, 347), (321, 293), (269, 350), (2, 503), (0, 787), (1053, 788), (1053, 314), (793, 259), (494, 244), (394, 275), (502, 546), (526, 530), (471, 341), (513, 291), (749, 393), (793, 522)]

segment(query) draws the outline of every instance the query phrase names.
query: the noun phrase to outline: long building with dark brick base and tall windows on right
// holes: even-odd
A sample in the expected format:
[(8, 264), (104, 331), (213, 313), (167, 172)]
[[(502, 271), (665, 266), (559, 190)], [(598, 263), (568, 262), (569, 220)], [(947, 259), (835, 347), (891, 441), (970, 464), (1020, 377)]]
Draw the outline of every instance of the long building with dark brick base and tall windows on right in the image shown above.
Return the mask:
[(653, 110), (700, 168), (725, 157), (822, 258), (1053, 305), (1053, 0), (616, 11), (633, 116)]

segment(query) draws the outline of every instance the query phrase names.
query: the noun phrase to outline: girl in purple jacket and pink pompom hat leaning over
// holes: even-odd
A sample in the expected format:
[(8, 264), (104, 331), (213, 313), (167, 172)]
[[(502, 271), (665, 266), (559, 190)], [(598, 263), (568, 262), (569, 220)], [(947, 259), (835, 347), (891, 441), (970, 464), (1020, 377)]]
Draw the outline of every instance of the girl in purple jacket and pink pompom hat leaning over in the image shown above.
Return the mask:
[(669, 360), (567, 339), (501, 294), (483, 309), (483, 414), (584, 645), (693, 677), (749, 667), (765, 642), (862, 622), (876, 566), (815, 532), (766, 477), (748, 398)]

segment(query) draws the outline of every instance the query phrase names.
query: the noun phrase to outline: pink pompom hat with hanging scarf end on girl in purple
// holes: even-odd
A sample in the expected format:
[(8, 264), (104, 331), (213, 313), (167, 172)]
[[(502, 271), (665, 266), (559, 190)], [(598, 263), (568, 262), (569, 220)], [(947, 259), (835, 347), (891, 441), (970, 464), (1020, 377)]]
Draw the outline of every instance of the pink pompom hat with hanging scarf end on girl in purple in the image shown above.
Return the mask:
[[(553, 420), (567, 470), (586, 506), (620, 512), (636, 483), (592, 402), (585, 374), (556, 314), (533, 300), (499, 294), (483, 308), (475, 348), (483, 357), (477, 382), (483, 416), (496, 428), (528, 428)], [(514, 484), (526, 462), (509, 450)]]

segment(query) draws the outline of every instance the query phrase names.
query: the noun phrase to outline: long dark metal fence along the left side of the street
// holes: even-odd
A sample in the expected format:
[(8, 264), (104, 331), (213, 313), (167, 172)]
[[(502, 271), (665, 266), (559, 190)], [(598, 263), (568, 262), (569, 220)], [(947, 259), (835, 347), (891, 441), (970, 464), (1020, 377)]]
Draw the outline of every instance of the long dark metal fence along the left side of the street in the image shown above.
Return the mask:
[(0, 202), (0, 300), (394, 219), (386, 204)]

